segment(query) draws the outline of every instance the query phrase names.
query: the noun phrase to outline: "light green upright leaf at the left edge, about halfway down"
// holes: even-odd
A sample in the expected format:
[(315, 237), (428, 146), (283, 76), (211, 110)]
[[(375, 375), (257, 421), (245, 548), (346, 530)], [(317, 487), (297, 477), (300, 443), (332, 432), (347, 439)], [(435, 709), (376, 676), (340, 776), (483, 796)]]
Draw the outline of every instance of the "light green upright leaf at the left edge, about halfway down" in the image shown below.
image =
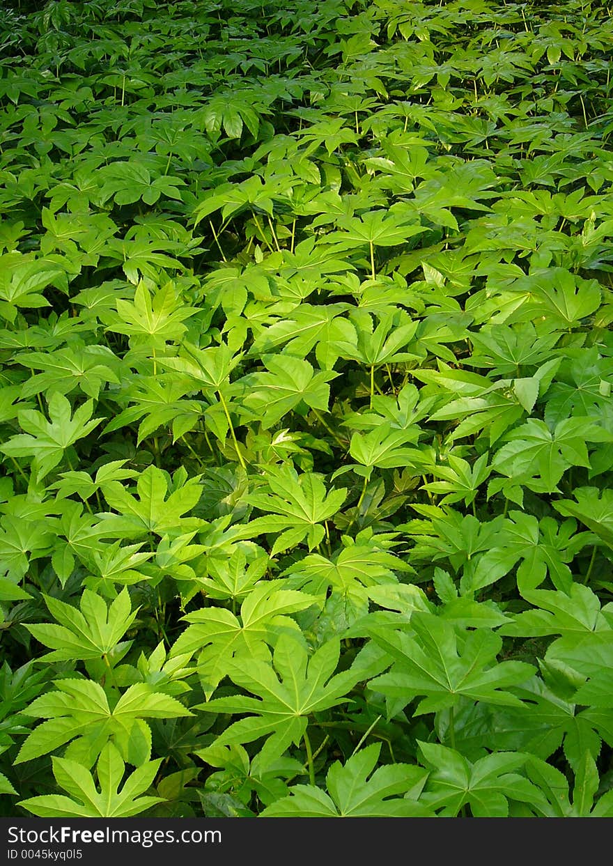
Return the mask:
[(87, 400), (73, 415), (68, 399), (55, 391), (48, 399), (50, 421), (35, 409), (20, 411), (19, 424), (26, 433), (11, 436), (0, 451), (10, 457), (34, 457), (35, 476), (42, 481), (61, 462), (65, 450), (103, 420), (92, 418), (93, 412), (94, 400)]

